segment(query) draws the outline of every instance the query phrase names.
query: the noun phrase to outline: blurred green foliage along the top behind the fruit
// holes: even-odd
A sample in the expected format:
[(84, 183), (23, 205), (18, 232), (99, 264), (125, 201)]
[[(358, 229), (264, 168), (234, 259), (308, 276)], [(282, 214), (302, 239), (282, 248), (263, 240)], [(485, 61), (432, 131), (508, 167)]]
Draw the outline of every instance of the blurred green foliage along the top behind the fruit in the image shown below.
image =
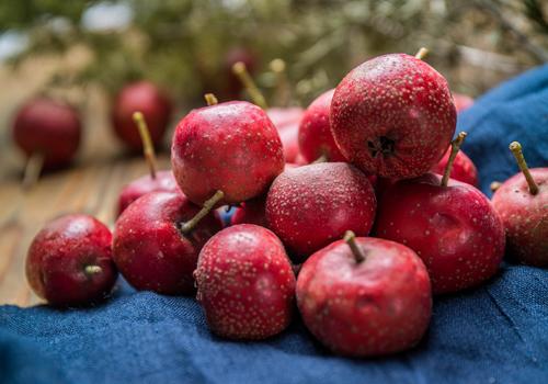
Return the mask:
[[(126, 81), (147, 78), (186, 103), (202, 102), (205, 91), (222, 93), (229, 70), (226, 54), (232, 47), (246, 47), (256, 56), (255, 78), (269, 97), (275, 77), (267, 65), (284, 58), (294, 103), (306, 103), (368, 57), (414, 54), (420, 46), (431, 48), (429, 63), (448, 77), (454, 89), (473, 94), (496, 78), (489, 83), (481, 72), (464, 77), (461, 69), (470, 60), (466, 55), (495, 54), (507, 59), (509, 71), (518, 71), (541, 61), (548, 44), (548, 24), (538, 0), (117, 2), (134, 12), (124, 31), (82, 29), (82, 14), (100, 1), (7, 0), (0, 2), (0, 32), (22, 30), (31, 37), (28, 48), (13, 59), (15, 65), (30, 55), (83, 46), (92, 59), (78, 74), (57, 74), (57, 80), (98, 82), (114, 92)], [(499, 20), (502, 16), (520, 21), (520, 30), (509, 30)]]

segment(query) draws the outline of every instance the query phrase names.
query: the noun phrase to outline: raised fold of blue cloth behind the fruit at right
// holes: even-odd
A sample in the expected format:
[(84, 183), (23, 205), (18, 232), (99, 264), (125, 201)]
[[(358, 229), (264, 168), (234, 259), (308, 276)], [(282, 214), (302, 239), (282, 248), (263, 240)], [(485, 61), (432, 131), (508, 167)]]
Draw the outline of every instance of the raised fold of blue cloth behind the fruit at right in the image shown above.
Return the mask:
[(481, 190), (518, 172), (509, 149), (522, 144), (530, 168), (548, 167), (548, 65), (514, 78), (478, 99), (458, 116), (457, 132), (468, 132), (463, 150), (478, 167)]

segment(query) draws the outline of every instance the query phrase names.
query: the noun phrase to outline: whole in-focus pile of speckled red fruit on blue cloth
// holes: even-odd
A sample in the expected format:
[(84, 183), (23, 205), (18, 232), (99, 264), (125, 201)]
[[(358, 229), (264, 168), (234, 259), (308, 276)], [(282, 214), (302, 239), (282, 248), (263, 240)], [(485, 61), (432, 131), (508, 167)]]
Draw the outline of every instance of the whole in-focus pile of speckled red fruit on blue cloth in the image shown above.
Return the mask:
[[(329, 349), (372, 357), (421, 340), (433, 294), (492, 278), (505, 238), (520, 261), (548, 266), (548, 169), (529, 171), (512, 144), (524, 173), (492, 204), (458, 151), (466, 134), (452, 142), (446, 80), (418, 57), (368, 60), (312, 102), (297, 135), (311, 162), (301, 167), (285, 163), (284, 128), (263, 109), (206, 100), (175, 129), (173, 173), (151, 168), (129, 188), (112, 247), (82, 215), (37, 235), (27, 261), (37, 294), (87, 304), (117, 270), (137, 290), (196, 294), (212, 331), (238, 340), (283, 331), (296, 303)], [(237, 206), (225, 229), (224, 205)]]

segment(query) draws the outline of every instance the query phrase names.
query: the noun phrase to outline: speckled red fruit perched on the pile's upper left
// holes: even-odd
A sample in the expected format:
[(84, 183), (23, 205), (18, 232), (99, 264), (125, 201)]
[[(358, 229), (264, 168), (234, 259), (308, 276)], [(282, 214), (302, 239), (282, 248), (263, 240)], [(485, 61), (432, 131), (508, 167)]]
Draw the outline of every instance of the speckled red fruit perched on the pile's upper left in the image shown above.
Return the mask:
[(202, 205), (221, 190), (222, 205), (265, 193), (284, 169), (284, 154), (266, 113), (246, 101), (232, 101), (191, 111), (179, 123), (171, 163), (192, 202)]

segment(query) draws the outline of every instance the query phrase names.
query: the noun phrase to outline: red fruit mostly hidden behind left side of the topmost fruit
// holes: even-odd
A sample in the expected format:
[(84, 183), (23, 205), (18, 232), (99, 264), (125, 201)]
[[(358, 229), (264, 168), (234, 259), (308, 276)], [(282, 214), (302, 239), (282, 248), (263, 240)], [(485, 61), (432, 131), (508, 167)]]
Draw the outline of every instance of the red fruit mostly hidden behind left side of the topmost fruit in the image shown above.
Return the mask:
[(299, 125), (299, 150), (308, 162), (327, 156), (328, 161), (346, 161), (339, 150), (329, 123), (334, 89), (320, 94), (308, 106)]

